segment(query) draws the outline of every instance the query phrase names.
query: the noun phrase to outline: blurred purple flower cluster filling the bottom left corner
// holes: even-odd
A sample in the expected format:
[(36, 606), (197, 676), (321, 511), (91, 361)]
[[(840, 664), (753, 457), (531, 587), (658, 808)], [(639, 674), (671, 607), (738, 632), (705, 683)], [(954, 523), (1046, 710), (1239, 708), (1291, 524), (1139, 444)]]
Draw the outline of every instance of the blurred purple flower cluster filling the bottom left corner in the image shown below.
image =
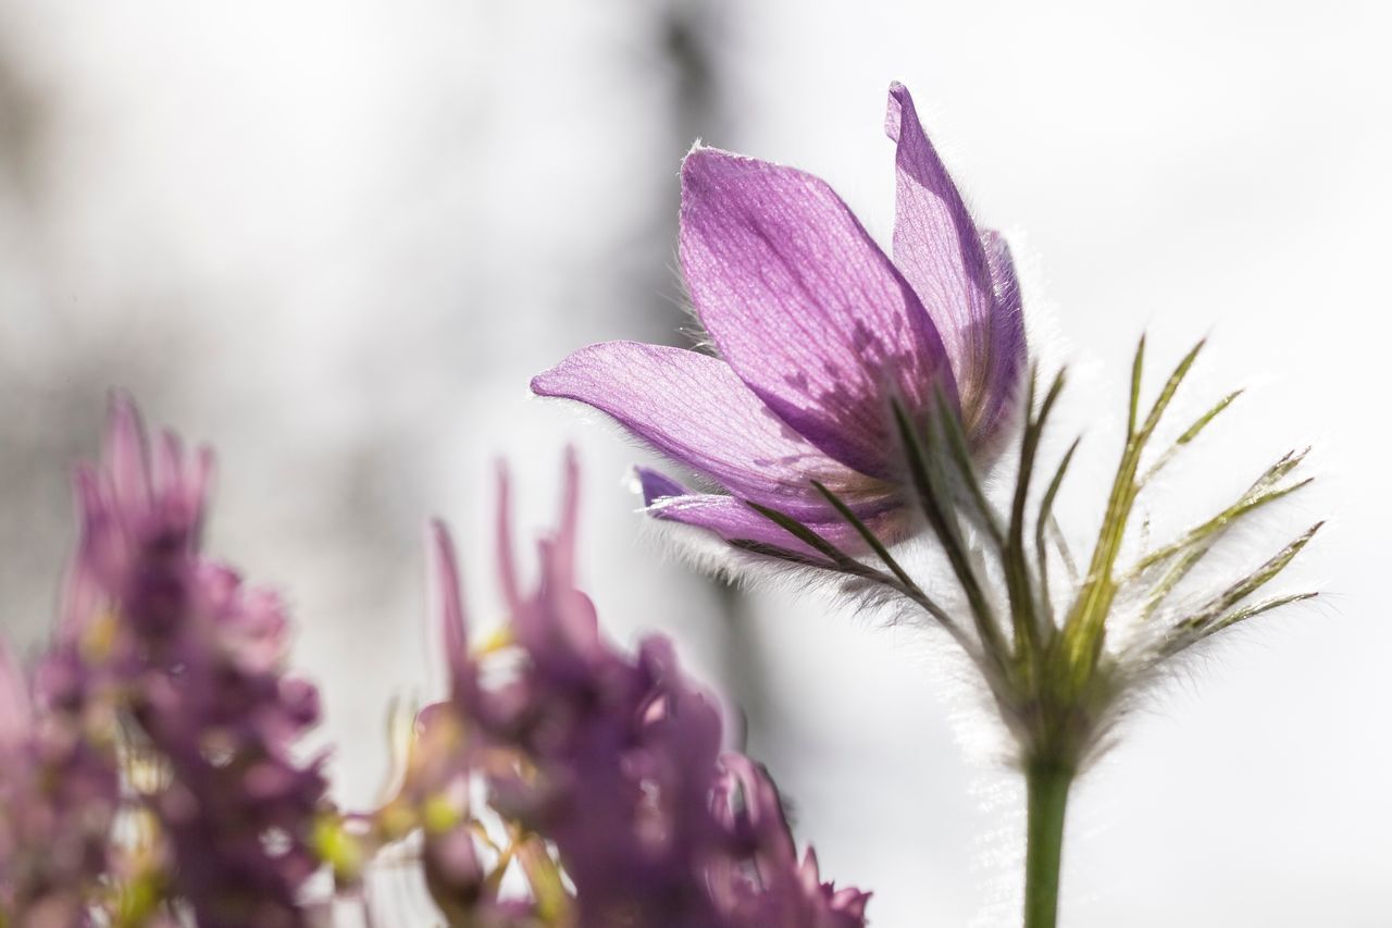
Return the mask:
[(295, 748), (319, 695), (283, 670), (280, 601), (199, 550), (210, 464), (173, 435), (152, 454), (118, 399), (78, 471), (56, 641), (32, 674), (4, 663), (7, 921), (305, 924), (326, 780)]

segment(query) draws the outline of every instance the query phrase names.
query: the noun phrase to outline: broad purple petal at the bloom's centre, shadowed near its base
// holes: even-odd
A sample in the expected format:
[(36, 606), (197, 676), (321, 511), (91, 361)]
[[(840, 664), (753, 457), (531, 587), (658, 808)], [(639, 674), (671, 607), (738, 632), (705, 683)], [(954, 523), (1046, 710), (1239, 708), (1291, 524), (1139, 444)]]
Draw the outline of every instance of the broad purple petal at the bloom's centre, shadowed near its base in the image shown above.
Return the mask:
[(682, 164), (681, 261), (735, 373), (831, 457), (891, 474), (888, 401), (956, 396), (909, 281), (818, 178), (695, 149)]

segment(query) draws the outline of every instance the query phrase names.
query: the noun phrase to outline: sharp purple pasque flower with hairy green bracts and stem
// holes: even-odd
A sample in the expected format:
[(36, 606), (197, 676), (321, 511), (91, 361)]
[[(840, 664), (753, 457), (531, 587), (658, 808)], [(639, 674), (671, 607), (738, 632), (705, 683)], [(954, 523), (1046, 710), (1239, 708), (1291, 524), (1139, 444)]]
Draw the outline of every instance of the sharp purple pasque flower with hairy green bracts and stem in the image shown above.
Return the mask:
[[(1200, 348), (1146, 408), (1141, 340), (1102, 524), (1086, 570), (1073, 569), (1052, 511), (1073, 449), (1050, 479), (1036, 474), (1063, 373), (1043, 390), (1036, 372), (1023, 376), (1009, 255), (972, 223), (898, 85), (887, 128), (898, 144), (894, 262), (821, 181), (697, 148), (682, 167), (681, 258), (720, 358), (599, 344), (537, 376), (533, 390), (607, 412), (724, 490), (690, 493), (643, 471), (654, 516), (828, 571), (846, 589), (902, 598), (908, 614), (952, 635), (980, 670), (1026, 776), (1026, 928), (1052, 928), (1075, 778), (1157, 669), (1307, 598), (1256, 596), (1318, 524), (1231, 582), (1194, 589), (1196, 567), (1233, 524), (1308, 482), (1292, 477), (1303, 458), (1292, 453), (1226, 509), (1123, 563), (1151, 477), (1236, 396), (1151, 456)], [(1001, 507), (980, 470), (1012, 418), (1018, 383), (1027, 383), (1018, 470)], [(910, 511), (951, 578), (916, 580), (895, 560), (889, 548)], [(867, 552), (874, 557), (856, 556)]]

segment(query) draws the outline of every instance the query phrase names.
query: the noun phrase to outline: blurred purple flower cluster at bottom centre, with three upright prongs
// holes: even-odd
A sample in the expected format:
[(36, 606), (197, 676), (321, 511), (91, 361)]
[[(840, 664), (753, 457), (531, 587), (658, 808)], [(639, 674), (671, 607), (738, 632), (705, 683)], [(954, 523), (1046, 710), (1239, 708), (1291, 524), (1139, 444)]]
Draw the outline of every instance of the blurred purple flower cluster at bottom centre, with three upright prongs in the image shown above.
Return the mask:
[[(738, 755), (721, 761), (717, 704), (682, 676), (671, 642), (650, 637), (635, 659), (600, 635), (593, 603), (575, 587), (575, 539), (571, 458), (560, 529), (540, 542), (540, 578), (523, 592), (503, 481), (498, 556), (516, 654), (498, 679), (466, 649), (452, 546), (436, 528), (452, 695), (423, 713), (420, 733), (438, 752), (413, 759), (416, 782), (440, 790), (455, 779), (451, 768), (480, 772), (505, 819), (554, 844), (580, 928), (863, 925), (866, 895), (820, 883), (810, 853), (796, 861), (767, 775)], [(451, 708), (452, 730), (468, 733), (466, 743), (432, 734), (448, 725)], [(425, 747), (423, 737), (418, 748)], [(422, 778), (423, 771), (433, 772)], [(466, 821), (461, 817), (459, 840), (437, 836), (433, 849), (427, 835), (426, 871), (440, 868), (448, 844), (466, 864), (464, 900), (493, 911), (498, 903), (480, 890), (489, 879)], [(436, 895), (443, 908), (458, 911), (458, 893)]]

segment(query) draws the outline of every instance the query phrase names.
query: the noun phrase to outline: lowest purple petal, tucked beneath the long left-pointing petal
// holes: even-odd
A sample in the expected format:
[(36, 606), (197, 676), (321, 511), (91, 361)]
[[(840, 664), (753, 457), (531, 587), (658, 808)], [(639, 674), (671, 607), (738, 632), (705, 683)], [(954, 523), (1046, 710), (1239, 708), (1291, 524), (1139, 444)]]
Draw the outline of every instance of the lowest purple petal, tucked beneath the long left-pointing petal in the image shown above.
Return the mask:
[[(643, 475), (640, 474), (640, 477)], [(668, 488), (675, 486), (677, 489), (681, 489), (681, 486), (674, 481), (664, 478), (654, 471), (649, 471), (647, 477), (663, 481), (663, 484), (653, 484), (654, 486), (665, 485)], [(777, 545), (778, 548), (785, 548), (788, 550), (798, 552), (799, 555), (812, 555), (824, 560), (820, 553), (800, 542), (784, 528), (775, 525), (767, 517), (750, 509), (750, 506), (742, 499), (725, 496), (724, 493), (689, 492), (679, 495), (664, 493), (656, 497), (647, 497), (649, 488), (650, 482), (644, 478), (643, 490), (644, 502), (647, 503), (647, 509), (644, 511), (653, 518), (704, 528), (725, 541), (756, 541), (766, 545)], [(851, 503), (851, 500), (848, 500), (848, 503)], [(905, 528), (908, 527), (908, 510), (903, 506), (894, 506), (884, 500), (870, 504), (863, 503), (859, 506), (851, 503), (851, 506), (866, 527), (869, 527), (870, 531), (873, 531), (876, 536), (885, 543), (894, 543), (903, 536)], [(866, 550), (864, 541), (860, 538), (859, 532), (842, 520), (837, 511), (831, 509), (831, 506), (824, 504), (824, 507), (823, 513), (802, 517), (799, 521), (848, 555), (856, 555)]]

